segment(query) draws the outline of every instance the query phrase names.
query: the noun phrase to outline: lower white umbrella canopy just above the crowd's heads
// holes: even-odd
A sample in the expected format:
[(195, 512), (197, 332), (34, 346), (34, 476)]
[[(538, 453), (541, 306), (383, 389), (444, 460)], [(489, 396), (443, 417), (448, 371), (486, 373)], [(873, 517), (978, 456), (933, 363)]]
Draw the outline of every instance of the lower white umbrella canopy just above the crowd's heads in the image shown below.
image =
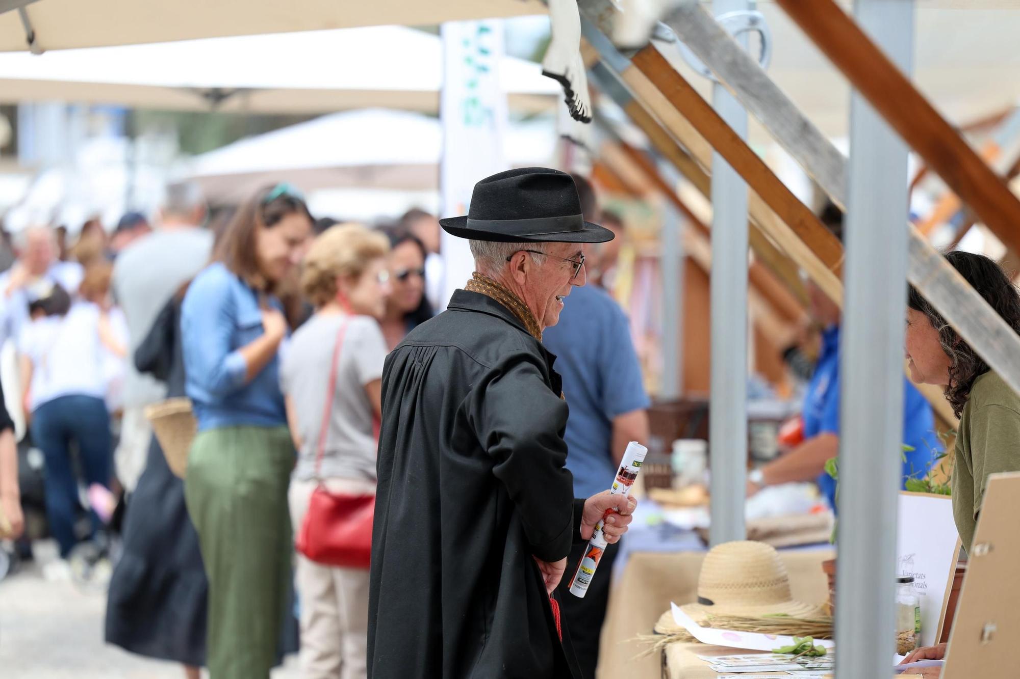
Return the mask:
[[(516, 167), (545, 165), (556, 148), (552, 119), (511, 123), (504, 153)], [(217, 202), (244, 200), (290, 181), (302, 191), (439, 187), (443, 130), (435, 117), (368, 109), (326, 115), (194, 157), (182, 174)]]

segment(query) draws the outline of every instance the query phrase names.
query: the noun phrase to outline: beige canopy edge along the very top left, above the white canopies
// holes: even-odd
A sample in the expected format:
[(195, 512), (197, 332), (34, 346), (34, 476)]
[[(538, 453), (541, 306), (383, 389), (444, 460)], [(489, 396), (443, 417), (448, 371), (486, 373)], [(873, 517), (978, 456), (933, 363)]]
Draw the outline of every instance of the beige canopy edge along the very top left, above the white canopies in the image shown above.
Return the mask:
[[(546, 13), (538, 0), (0, 0), (18, 6), (44, 50)], [(27, 49), (18, 12), (0, 14), (0, 51)]]

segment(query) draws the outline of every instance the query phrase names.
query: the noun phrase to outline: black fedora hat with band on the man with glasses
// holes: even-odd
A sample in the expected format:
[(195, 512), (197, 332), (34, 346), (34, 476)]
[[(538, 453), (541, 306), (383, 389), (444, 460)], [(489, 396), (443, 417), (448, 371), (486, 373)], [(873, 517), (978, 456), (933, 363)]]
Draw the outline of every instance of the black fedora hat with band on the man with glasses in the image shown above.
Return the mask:
[(447, 233), (501, 243), (605, 243), (613, 232), (584, 221), (577, 187), (548, 167), (507, 170), (474, 185), (467, 216), (440, 219)]

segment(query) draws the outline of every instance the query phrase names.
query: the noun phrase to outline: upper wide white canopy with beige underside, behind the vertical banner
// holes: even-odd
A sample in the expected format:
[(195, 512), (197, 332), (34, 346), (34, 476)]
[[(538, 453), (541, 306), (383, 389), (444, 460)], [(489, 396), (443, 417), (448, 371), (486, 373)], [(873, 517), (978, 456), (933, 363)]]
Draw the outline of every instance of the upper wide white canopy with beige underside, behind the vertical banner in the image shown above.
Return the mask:
[[(551, 110), (560, 86), (506, 56), (511, 109)], [(0, 102), (61, 99), (136, 108), (324, 113), (352, 108), (436, 112), (443, 44), (404, 27), (211, 38), (0, 54)]]

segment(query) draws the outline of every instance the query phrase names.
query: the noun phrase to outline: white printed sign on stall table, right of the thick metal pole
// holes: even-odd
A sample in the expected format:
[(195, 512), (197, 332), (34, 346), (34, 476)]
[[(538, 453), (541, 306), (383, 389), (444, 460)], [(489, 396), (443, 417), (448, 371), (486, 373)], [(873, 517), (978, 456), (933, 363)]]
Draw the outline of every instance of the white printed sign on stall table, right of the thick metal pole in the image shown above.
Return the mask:
[(934, 645), (946, 612), (960, 536), (953, 499), (922, 492), (900, 493), (897, 574), (914, 577), (921, 599), (921, 645)]

